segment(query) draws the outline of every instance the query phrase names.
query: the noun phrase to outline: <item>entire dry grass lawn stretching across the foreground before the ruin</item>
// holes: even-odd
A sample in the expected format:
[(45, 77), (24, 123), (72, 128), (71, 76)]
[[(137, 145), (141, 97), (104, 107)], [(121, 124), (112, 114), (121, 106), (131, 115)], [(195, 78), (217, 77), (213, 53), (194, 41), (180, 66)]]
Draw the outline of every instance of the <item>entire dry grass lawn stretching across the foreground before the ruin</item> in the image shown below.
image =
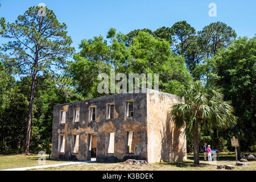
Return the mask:
[[(47, 159), (46, 155), (46, 159)], [(38, 155), (0, 155), (0, 169), (8, 168), (18, 168), (18, 167), (31, 167), (38, 166)], [(56, 163), (67, 163), (67, 161), (57, 161), (57, 160), (46, 160), (47, 164), (56, 164)], [(72, 164), (69, 166), (59, 166), (59, 167), (49, 167), (49, 168), (40, 168), (33, 170), (81, 170), (81, 171), (117, 171), (117, 170), (163, 170), (163, 171), (177, 171), (177, 170), (221, 170), (226, 171), (226, 169), (217, 169), (218, 164), (232, 164), (236, 165), (234, 152), (225, 152), (219, 155), (219, 161), (216, 164), (209, 164), (208, 161), (203, 161), (203, 155), (200, 155), (200, 165), (193, 166), (193, 155), (187, 155), (187, 161), (185, 162), (176, 162), (176, 163), (167, 163), (160, 162), (150, 165), (129, 165), (125, 163), (81, 163), (81, 164)], [(256, 171), (256, 161), (246, 162), (247, 166), (236, 166), (234, 170), (252, 170)]]

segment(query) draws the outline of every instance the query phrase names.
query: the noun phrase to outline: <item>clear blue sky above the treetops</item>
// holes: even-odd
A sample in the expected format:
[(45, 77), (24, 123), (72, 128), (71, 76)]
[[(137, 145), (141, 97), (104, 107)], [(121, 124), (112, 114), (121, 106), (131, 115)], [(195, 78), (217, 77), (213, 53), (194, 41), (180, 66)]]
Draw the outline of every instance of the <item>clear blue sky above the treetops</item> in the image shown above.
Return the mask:
[[(221, 21), (231, 26), (238, 36), (253, 37), (256, 33), (255, 0), (0, 0), (0, 17), (14, 22), (30, 6), (45, 3), (59, 22), (68, 26), (73, 44), (78, 51), (82, 39), (105, 36), (110, 27), (128, 33), (138, 28), (156, 30), (171, 27), (186, 20), (197, 31), (212, 22)], [(209, 3), (216, 3), (217, 17), (210, 17)], [(0, 43), (3, 40), (0, 39)]]

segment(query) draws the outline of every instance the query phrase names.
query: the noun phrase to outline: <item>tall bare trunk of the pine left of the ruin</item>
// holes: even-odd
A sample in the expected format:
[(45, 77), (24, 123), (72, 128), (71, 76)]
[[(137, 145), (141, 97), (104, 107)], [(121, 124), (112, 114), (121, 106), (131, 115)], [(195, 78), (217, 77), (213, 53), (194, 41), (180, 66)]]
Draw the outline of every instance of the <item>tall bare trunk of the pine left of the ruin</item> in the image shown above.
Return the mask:
[(30, 105), (28, 107), (28, 118), (27, 118), (27, 134), (25, 139), (24, 153), (28, 154), (30, 152), (30, 132), (31, 132), (31, 122), (32, 122), (32, 110), (34, 104), (35, 96), (35, 86), (36, 86), (36, 74), (32, 77), (32, 85), (30, 90)]

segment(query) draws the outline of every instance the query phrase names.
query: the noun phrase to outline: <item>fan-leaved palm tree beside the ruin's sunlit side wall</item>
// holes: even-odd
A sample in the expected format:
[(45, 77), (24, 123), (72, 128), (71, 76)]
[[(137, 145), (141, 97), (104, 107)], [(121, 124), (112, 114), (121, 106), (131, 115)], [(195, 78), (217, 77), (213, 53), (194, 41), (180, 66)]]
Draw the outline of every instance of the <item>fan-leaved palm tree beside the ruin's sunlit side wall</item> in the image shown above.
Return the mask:
[(186, 126), (193, 135), (194, 164), (199, 165), (200, 127), (208, 121), (210, 127), (227, 129), (236, 124), (234, 109), (230, 101), (216, 86), (203, 86), (200, 81), (193, 82), (188, 90), (180, 89), (179, 104), (172, 106), (171, 117), (177, 127)]

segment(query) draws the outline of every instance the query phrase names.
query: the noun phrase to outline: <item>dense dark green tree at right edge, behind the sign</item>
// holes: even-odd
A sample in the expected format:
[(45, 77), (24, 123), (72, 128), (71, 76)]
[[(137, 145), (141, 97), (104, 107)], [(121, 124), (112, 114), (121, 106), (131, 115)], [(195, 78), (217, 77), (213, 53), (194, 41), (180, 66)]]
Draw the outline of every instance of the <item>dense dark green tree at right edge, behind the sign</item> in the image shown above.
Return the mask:
[[(211, 79), (222, 86), (225, 100), (231, 100), (238, 122), (230, 135), (240, 138), (241, 150), (255, 146), (256, 38), (239, 38), (210, 60)], [(251, 148), (250, 148), (251, 147)]]

